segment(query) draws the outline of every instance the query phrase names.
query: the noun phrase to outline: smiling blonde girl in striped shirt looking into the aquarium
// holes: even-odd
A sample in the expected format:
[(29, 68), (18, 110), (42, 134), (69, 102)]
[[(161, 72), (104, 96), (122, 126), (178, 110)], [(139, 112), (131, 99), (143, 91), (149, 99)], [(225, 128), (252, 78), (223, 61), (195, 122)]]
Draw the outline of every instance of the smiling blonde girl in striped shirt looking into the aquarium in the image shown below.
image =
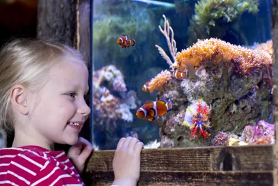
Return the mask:
[[(84, 185), (92, 152), (79, 132), (90, 114), (88, 68), (74, 49), (56, 42), (14, 40), (0, 52), (0, 126), (15, 131), (0, 149), (0, 185)], [(54, 144), (73, 145), (68, 155)], [(120, 139), (113, 185), (136, 185), (143, 144)]]

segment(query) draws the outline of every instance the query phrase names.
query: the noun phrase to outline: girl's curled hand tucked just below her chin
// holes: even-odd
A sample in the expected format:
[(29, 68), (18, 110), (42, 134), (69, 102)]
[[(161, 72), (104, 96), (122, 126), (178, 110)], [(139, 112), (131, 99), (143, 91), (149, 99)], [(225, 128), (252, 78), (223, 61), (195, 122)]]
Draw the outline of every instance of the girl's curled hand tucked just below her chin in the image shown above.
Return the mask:
[(83, 137), (79, 137), (79, 141), (69, 149), (67, 157), (72, 161), (79, 174), (83, 172), (85, 161), (90, 153), (92, 153), (92, 150), (93, 148), (90, 142)]

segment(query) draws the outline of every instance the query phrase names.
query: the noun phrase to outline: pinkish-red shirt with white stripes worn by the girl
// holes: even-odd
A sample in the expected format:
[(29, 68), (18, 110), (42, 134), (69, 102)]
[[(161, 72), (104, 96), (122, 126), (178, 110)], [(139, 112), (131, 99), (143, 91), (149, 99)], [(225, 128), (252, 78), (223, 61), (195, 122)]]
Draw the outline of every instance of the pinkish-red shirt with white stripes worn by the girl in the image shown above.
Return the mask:
[(84, 185), (64, 151), (39, 146), (0, 149), (0, 185)]

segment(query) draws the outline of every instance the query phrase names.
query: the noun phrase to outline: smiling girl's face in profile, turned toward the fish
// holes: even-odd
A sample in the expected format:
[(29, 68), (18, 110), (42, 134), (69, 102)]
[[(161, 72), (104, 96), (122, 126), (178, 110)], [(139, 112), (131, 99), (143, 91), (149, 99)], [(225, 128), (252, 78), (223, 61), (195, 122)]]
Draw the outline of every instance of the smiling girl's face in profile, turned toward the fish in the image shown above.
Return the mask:
[(62, 61), (51, 69), (47, 84), (31, 98), (28, 116), (38, 132), (36, 140), (50, 146), (76, 144), (90, 114), (84, 100), (88, 88), (88, 69), (83, 63)]

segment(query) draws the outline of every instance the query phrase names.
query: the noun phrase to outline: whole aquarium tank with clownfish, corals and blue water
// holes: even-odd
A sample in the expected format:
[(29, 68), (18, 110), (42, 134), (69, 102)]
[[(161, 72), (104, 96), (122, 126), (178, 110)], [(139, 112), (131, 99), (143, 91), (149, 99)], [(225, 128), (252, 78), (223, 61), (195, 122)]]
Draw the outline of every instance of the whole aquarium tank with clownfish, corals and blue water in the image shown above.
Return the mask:
[(96, 149), (274, 144), (272, 1), (92, 2), (79, 40)]

